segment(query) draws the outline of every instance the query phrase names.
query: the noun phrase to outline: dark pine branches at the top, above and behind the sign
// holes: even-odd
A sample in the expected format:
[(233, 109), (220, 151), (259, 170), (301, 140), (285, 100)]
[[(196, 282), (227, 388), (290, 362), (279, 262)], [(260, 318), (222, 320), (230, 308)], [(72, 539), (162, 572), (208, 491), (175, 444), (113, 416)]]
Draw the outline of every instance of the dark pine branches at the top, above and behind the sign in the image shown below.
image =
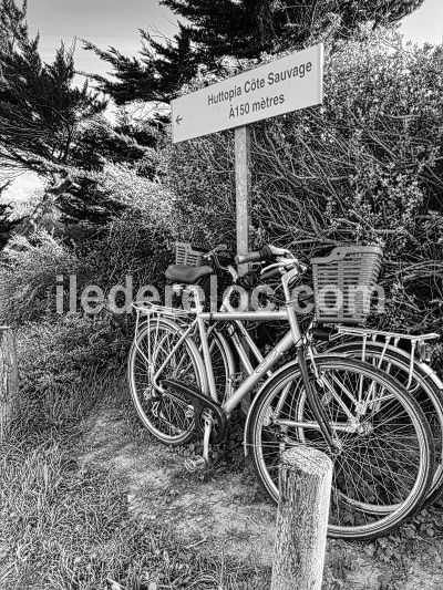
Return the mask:
[(223, 71), (225, 58), (259, 59), (262, 52), (301, 49), (326, 35), (348, 38), (360, 24), (393, 23), (424, 0), (163, 0), (190, 25), (181, 24), (166, 45), (142, 31), (142, 59), (85, 42), (113, 68), (114, 81), (95, 76), (117, 104), (169, 102), (200, 64)]

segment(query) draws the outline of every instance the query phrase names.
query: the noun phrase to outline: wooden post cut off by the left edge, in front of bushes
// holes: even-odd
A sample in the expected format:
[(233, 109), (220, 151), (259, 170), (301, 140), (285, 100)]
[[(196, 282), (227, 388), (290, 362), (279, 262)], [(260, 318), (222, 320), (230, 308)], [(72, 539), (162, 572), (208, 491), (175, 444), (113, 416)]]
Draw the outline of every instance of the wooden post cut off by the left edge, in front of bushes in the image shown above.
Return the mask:
[(0, 442), (9, 434), (18, 396), (16, 334), (12, 328), (0, 325)]

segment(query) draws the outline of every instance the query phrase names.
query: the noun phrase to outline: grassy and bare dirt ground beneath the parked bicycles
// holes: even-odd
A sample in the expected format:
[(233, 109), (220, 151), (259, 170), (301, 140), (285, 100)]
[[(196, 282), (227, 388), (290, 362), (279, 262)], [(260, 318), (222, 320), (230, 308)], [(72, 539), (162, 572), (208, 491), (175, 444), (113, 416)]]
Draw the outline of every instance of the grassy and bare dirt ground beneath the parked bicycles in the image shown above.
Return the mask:
[[(153, 439), (119, 372), (28, 402), (0, 443), (1, 590), (270, 589), (276, 508), (240, 428), (188, 473), (196, 443)], [(442, 563), (437, 505), (388, 538), (328, 540), (323, 590), (440, 590)]]

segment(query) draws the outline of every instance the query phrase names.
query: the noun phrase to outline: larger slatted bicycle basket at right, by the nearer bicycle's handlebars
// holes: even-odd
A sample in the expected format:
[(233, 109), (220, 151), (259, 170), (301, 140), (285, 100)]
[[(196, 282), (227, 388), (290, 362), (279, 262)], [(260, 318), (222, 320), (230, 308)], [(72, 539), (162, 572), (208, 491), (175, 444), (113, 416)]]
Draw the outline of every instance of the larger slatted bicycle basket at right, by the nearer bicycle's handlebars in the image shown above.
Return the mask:
[(316, 319), (363, 323), (381, 269), (379, 246), (341, 246), (311, 259)]

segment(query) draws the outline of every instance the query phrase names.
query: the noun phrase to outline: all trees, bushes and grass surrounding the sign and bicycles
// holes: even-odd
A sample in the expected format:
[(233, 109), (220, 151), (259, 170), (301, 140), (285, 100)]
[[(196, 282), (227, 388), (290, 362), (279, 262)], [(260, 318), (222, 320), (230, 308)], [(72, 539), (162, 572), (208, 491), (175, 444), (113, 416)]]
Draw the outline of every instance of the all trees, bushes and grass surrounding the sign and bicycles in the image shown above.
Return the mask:
[[(140, 59), (85, 43), (113, 69), (113, 80), (93, 76), (103, 97), (75, 85), (73, 48), (44, 64), (25, 6), (0, 1), (0, 168), (45, 182), (31, 209), (0, 205), (0, 323), (18, 330), (21, 370), (20, 416), (0, 446), (0, 565), (11, 590), (268, 584), (269, 570), (223, 553), (209, 561), (165, 522), (137, 522), (125, 484), (79, 459), (103, 407), (140, 435), (116, 369), (133, 319), (112, 313), (112, 287), (131, 276), (134, 294), (161, 290), (176, 239), (235, 245), (233, 132), (172, 147), (168, 116), (131, 115), (134, 103), (168, 102), (323, 40), (323, 105), (253, 125), (255, 246), (309, 258), (379, 242), (389, 306), (378, 321), (443, 330), (443, 46), (405, 46), (384, 27), (421, 1), (164, 4), (189, 24), (166, 43), (142, 32)], [(121, 105), (115, 124), (104, 114), (109, 97)], [(101, 287), (100, 313), (60, 313), (60, 296), (64, 311), (72, 303), (70, 275), (78, 310), (84, 288)], [(378, 588), (400, 587), (403, 556), (442, 528), (437, 511), (422, 514), (361, 549), (398, 569)], [(351, 588), (351, 550), (331, 547), (328, 588)]]

